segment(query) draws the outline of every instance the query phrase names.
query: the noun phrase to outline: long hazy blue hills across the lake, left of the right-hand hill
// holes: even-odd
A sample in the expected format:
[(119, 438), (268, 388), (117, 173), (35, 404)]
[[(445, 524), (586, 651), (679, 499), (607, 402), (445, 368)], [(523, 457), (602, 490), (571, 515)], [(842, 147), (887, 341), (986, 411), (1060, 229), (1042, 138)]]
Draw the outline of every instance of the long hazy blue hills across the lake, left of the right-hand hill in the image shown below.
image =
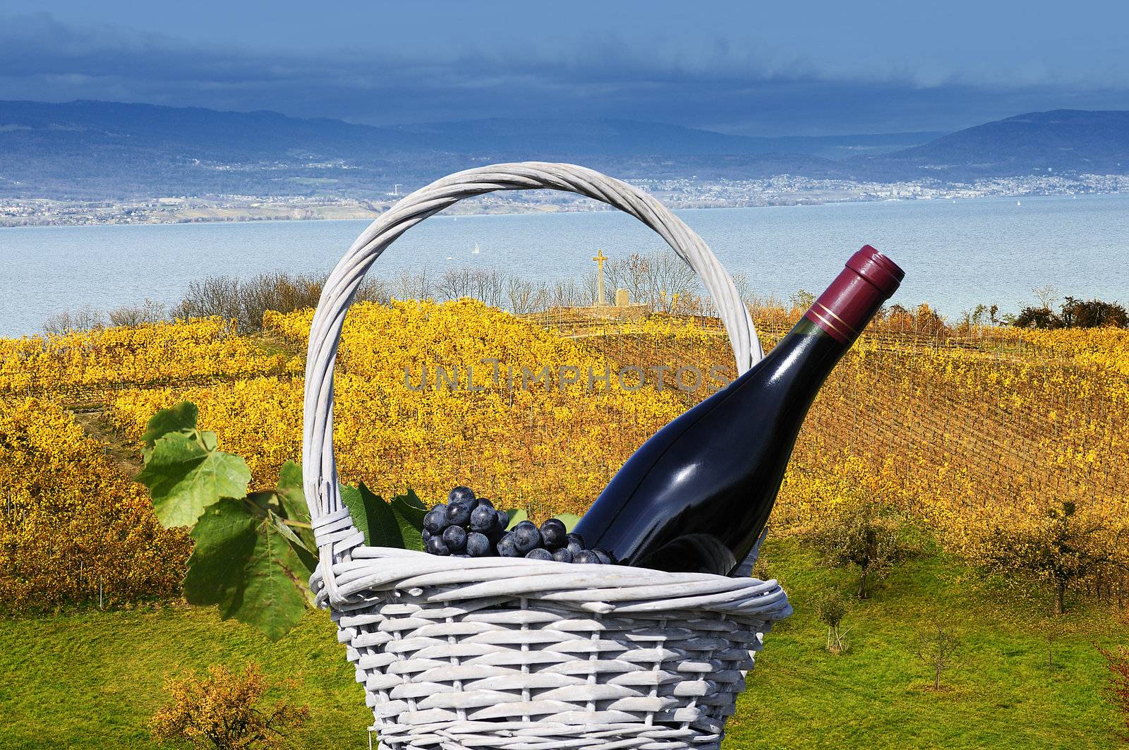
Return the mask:
[(112, 102), (0, 102), (0, 195), (379, 197), (470, 165), (559, 159), (622, 176), (849, 176), (829, 156), (931, 133), (745, 138), (623, 120), (467, 121), (392, 128)]

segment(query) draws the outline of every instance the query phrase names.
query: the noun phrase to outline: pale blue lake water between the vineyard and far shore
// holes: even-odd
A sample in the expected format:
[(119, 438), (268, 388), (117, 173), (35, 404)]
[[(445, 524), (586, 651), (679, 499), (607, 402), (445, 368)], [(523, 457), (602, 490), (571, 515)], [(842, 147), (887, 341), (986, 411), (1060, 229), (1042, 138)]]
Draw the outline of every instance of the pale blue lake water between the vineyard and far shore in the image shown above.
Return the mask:
[[(894, 302), (956, 316), (978, 303), (1003, 312), (1034, 287), (1129, 303), (1129, 194), (918, 200), (679, 215), (730, 272), (761, 294), (819, 291), (869, 243), (905, 269)], [(175, 304), (205, 276), (329, 271), (367, 221), (254, 221), (0, 228), (0, 335), (40, 330), (54, 313)], [(481, 253), (472, 254), (475, 243)], [(619, 211), (437, 216), (409, 230), (370, 273), (480, 265), (533, 279), (579, 277), (597, 247), (610, 258), (665, 245)], [(453, 260), (446, 260), (452, 256)]]

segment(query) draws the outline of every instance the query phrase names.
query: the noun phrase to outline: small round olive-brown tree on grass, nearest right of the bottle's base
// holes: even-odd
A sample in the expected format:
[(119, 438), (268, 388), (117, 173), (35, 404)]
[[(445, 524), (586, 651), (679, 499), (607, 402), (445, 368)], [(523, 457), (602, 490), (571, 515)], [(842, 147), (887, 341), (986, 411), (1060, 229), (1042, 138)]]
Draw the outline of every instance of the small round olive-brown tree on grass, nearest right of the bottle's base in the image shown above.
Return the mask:
[(867, 584), (884, 578), (904, 559), (904, 524), (873, 500), (847, 502), (829, 514), (813, 541), (828, 564), (859, 570), (858, 598), (869, 596)]

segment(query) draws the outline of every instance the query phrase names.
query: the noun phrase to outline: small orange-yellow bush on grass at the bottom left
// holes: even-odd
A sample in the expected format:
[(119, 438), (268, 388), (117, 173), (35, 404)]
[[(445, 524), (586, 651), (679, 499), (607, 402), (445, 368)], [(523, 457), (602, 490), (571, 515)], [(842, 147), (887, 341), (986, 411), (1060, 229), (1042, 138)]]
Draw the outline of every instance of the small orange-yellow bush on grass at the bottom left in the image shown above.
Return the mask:
[(149, 729), (158, 742), (189, 748), (286, 747), (286, 731), (305, 722), (309, 708), (285, 701), (257, 708), (269, 687), (253, 664), (242, 674), (217, 665), (209, 666), (204, 677), (170, 679), (165, 684), (170, 700), (154, 715)]

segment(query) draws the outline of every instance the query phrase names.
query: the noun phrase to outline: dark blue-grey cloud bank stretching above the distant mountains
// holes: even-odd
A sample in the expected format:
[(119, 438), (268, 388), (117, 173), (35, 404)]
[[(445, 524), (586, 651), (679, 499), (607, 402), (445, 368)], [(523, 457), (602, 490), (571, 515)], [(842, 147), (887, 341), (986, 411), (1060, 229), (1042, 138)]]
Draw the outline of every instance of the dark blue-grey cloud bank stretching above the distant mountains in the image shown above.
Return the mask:
[[(928, 84), (922, 82), (927, 80)], [(1127, 108), (1129, 85), (970, 81), (887, 66), (829, 70), (725, 38), (277, 53), (49, 14), (0, 18), (0, 98), (100, 98), (386, 124), (496, 116), (628, 117), (749, 134), (951, 130), (1031, 110)]]

